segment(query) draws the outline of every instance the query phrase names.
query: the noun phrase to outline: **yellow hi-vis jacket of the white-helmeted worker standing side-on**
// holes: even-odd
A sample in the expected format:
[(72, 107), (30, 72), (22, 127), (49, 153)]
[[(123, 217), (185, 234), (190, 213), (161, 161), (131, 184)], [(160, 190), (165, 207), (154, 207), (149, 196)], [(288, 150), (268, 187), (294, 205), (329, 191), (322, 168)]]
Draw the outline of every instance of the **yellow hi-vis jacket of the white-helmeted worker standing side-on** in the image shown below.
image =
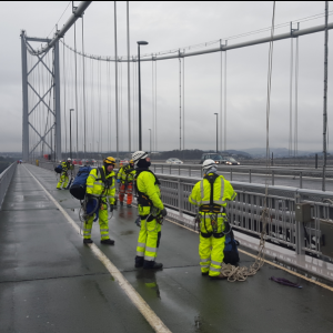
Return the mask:
[[(142, 171), (137, 178), (137, 186), (140, 192), (148, 196), (153, 206), (159, 210), (164, 209), (164, 205), (161, 200), (161, 192), (158, 184), (155, 184), (155, 176), (149, 171)], [(150, 206), (142, 206), (139, 204), (139, 214), (147, 215), (150, 213)]]

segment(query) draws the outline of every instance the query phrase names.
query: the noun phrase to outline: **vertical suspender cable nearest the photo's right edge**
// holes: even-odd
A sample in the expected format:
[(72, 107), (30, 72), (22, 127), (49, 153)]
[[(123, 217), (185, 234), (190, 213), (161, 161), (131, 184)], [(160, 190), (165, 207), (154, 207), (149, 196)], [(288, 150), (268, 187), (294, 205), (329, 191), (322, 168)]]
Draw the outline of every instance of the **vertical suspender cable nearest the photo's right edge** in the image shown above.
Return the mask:
[(327, 131), (327, 62), (329, 62), (329, 1), (325, 1), (325, 49), (324, 49), (324, 105), (323, 105), (323, 184), (325, 191), (325, 172), (326, 172), (326, 131)]

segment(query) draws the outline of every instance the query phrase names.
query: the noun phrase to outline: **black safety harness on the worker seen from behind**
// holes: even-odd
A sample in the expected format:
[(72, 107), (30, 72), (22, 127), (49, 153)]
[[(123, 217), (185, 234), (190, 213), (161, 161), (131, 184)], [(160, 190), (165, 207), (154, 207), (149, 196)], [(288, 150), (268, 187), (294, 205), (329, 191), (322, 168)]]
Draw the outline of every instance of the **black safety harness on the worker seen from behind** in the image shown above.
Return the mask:
[[(206, 232), (201, 231), (201, 235), (205, 239), (210, 238), (211, 235), (213, 235), (215, 239), (221, 239), (225, 234), (228, 234), (231, 230), (229, 222), (223, 221), (223, 223), (226, 226), (229, 226), (229, 228), (226, 228), (228, 231), (226, 232), (223, 231), (223, 226), (222, 226), (222, 231), (218, 232), (218, 218), (219, 218), (219, 214), (221, 214), (221, 216), (224, 220), (225, 215), (222, 215), (222, 214), (225, 213), (225, 209), (224, 209), (223, 205), (214, 203), (214, 182), (215, 182), (216, 178), (219, 178), (219, 175), (215, 174), (215, 173), (206, 174), (204, 176), (204, 179), (206, 179), (210, 182), (210, 185), (211, 185), (210, 203), (209, 204), (202, 204), (199, 209), (199, 212), (203, 213), (203, 221), (204, 221), (203, 224), (204, 224), (204, 228), (205, 228), (205, 231), (206, 231)], [(208, 229), (206, 229), (206, 224), (205, 224), (206, 214), (209, 214), (209, 218), (211, 219), (211, 225), (212, 225), (213, 232), (209, 232)], [(199, 221), (199, 220), (196, 219), (196, 221)]]

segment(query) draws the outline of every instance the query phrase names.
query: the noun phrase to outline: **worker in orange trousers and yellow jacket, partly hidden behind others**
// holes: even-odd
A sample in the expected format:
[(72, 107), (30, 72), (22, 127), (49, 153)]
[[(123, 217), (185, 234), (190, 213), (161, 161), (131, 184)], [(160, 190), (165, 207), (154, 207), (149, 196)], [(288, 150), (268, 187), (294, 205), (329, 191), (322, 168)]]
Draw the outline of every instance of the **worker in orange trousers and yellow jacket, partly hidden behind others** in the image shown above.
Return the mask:
[(132, 206), (133, 200), (133, 181), (134, 181), (135, 170), (134, 162), (131, 160), (128, 164), (120, 168), (117, 174), (117, 182), (120, 183), (119, 188), (119, 202), (123, 205), (124, 194), (127, 194), (127, 205)]

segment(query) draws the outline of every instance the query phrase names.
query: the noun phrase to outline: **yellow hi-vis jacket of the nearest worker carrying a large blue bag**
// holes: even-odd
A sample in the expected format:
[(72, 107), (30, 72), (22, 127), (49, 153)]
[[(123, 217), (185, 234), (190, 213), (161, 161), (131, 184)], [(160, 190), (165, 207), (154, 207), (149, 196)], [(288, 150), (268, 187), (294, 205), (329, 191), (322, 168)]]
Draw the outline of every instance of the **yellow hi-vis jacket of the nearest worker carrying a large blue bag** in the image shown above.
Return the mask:
[(114, 185), (114, 172), (111, 171), (108, 175), (105, 172), (104, 165), (102, 167), (104, 170), (105, 179), (112, 179), (112, 184), (110, 185), (109, 190), (104, 190), (104, 183), (101, 179), (100, 171), (98, 169), (92, 169), (87, 178), (87, 194), (92, 194), (97, 198), (102, 198), (104, 200), (109, 200), (110, 204), (114, 203), (114, 195), (115, 195), (115, 185)]

